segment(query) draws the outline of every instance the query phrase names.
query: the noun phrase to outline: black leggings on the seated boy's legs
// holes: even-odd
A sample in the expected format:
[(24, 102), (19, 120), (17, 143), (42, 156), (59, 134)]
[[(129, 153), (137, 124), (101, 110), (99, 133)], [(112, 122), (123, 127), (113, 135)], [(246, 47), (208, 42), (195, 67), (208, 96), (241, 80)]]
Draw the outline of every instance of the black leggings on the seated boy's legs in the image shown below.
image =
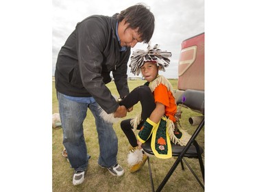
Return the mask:
[[(121, 102), (119, 102), (119, 105), (124, 105), (127, 109), (134, 106), (138, 101), (141, 103), (142, 112), (141, 112), (141, 120), (140, 124), (138, 124), (136, 129), (140, 129), (145, 120), (149, 118), (151, 115), (151, 112), (154, 111), (156, 108), (156, 103), (154, 101), (154, 95), (152, 94), (150, 88), (146, 85), (142, 85), (139, 87), (136, 87), (130, 94), (128, 94)], [(130, 145), (132, 147), (138, 146), (136, 135), (134, 134), (133, 127), (130, 124), (130, 121), (132, 119), (123, 120), (121, 122), (121, 129), (125, 133), (128, 141), (130, 142)]]

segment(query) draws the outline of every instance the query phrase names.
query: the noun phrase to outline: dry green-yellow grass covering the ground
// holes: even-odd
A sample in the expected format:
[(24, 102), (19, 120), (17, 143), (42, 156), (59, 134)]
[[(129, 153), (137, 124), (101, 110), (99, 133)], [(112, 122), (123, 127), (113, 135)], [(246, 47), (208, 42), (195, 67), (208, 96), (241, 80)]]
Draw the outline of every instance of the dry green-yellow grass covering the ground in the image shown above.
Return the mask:
[[(143, 85), (145, 81), (128, 81), (130, 91), (137, 87), (138, 85)], [(177, 89), (178, 80), (170, 80), (173, 85), (173, 89)], [(58, 101), (56, 98), (56, 90), (53, 86), (53, 99), (52, 99), (52, 112), (58, 113)], [(119, 96), (114, 82), (112, 81), (107, 85), (112, 94)], [(189, 134), (192, 134), (195, 130), (195, 127), (191, 126), (188, 123), (188, 118), (190, 116), (198, 115), (190, 109), (182, 109), (182, 127), (184, 130), (188, 131)], [(140, 104), (134, 106), (134, 111), (127, 113), (126, 118), (134, 117), (134, 115), (140, 113)], [(125, 118), (123, 118), (125, 119)], [(112, 176), (106, 169), (102, 169), (97, 164), (97, 159), (99, 155), (99, 145), (97, 141), (97, 131), (95, 128), (95, 120), (92, 113), (88, 110), (86, 120), (84, 121), (84, 137), (86, 139), (86, 145), (88, 147), (88, 153), (91, 156), (88, 165), (88, 172), (86, 174), (86, 180), (83, 184), (79, 186), (73, 186), (72, 177), (73, 169), (71, 169), (69, 163), (62, 157), (62, 128), (53, 128), (52, 129), (52, 188), (53, 192), (64, 192), (64, 191), (151, 191), (151, 184), (149, 180), (149, 172), (147, 163), (139, 172), (131, 174), (129, 172), (129, 167), (127, 166), (127, 150), (129, 148), (129, 143), (125, 137), (123, 131), (119, 126), (119, 123), (114, 124), (114, 130), (117, 133), (119, 139), (119, 151), (118, 151), (118, 162), (125, 169), (125, 174), (122, 177)], [(198, 143), (204, 148), (204, 128), (199, 133), (197, 137)], [(204, 155), (203, 155), (204, 158)], [(191, 166), (195, 168), (195, 171), (198, 176), (201, 176), (199, 170), (199, 165), (197, 159), (187, 159), (188, 163), (191, 163)], [(164, 176), (169, 172), (171, 165), (174, 163), (175, 158), (171, 159), (158, 159), (152, 157), (151, 169), (154, 177), (154, 186), (157, 189), (160, 182)], [(182, 171), (181, 166), (178, 165), (175, 172), (169, 178), (167, 184), (164, 186), (162, 191), (204, 191), (201, 189), (197, 180), (195, 180), (193, 174), (190, 170), (185, 167), (185, 171)]]

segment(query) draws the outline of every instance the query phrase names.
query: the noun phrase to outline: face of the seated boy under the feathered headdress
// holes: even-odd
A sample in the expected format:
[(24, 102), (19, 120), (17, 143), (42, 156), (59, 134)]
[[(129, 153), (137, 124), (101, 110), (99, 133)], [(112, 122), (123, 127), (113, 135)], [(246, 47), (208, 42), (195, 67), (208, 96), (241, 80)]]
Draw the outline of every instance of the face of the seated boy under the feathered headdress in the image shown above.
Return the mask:
[(140, 69), (143, 77), (145, 77), (145, 80), (148, 82), (154, 81), (158, 75), (158, 66), (153, 62), (145, 62), (145, 64)]

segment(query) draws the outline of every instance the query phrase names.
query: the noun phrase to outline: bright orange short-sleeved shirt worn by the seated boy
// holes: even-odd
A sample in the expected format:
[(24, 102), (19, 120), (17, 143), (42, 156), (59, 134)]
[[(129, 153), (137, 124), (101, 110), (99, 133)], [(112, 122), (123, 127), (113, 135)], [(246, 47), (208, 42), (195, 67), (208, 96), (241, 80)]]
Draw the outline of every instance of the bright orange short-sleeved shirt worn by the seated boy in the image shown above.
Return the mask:
[(165, 106), (165, 113), (170, 120), (175, 122), (174, 115), (177, 112), (177, 105), (175, 104), (175, 98), (173, 94), (168, 91), (165, 85), (158, 85), (154, 90), (154, 100), (160, 102)]

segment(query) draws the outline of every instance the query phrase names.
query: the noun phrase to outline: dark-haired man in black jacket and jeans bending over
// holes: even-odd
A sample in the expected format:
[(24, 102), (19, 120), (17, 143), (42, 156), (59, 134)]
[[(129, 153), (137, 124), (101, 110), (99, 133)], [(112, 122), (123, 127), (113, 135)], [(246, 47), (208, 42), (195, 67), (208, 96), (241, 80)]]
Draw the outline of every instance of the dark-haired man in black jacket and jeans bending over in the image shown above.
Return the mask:
[(83, 122), (92, 111), (99, 138), (98, 164), (114, 176), (122, 176), (117, 163), (118, 140), (112, 124), (99, 115), (102, 110), (115, 118), (127, 114), (119, 106), (106, 83), (110, 72), (121, 98), (129, 94), (127, 61), (130, 49), (138, 42), (148, 43), (154, 33), (154, 15), (137, 4), (114, 16), (89, 16), (78, 23), (62, 46), (56, 63), (56, 91), (63, 129), (63, 144), (71, 167), (73, 184), (84, 182), (88, 167)]

